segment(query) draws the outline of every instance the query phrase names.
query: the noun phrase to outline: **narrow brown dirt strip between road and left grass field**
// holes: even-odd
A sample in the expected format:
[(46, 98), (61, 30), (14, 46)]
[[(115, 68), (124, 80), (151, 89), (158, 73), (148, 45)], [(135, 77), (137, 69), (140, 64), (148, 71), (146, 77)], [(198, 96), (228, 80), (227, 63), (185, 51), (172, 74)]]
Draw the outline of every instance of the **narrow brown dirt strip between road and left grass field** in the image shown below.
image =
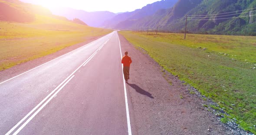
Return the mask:
[(102, 36), (97, 36), (97, 37), (87, 37), (85, 38), (85, 42), (81, 42), (79, 44), (75, 44), (75, 45), (72, 45), (72, 46), (69, 46), (69, 47), (66, 47), (66, 48), (63, 48), (62, 50), (59, 50), (53, 54), (50, 54), (50, 55), (46, 55), (44, 57), (41, 57), (41, 58), (37, 58), (37, 59), (34, 59), (32, 61), (27, 61), (25, 63), (22, 63), (22, 64), (18, 64), (16, 66), (13, 66), (9, 69), (6, 69), (4, 71), (0, 71), (0, 83), (7, 80), (7, 79), (10, 79), (12, 77), (15, 77), (19, 74), (22, 74), (26, 71), (29, 71), (30, 69), (33, 69), (34, 67), (37, 67), (41, 64), (44, 64), (48, 61), (51, 61), (55, 58), (58, 58), (59, 56), (61, 55), (64, 55), (70, 51), (73, 51), (75, 50), (76, 48), (79, 48), (83, 45), (86, 45), (92, 41), (95, 41), (101, 37), (103, 37), (104, 35)]

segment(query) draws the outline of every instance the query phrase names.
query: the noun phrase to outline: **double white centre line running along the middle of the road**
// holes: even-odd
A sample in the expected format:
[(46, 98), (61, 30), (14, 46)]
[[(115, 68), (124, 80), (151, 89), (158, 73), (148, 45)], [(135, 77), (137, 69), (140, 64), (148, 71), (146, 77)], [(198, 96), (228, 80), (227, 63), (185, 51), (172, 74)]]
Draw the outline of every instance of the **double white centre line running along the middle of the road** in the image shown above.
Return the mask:
[[(108, 39), (109, 40), (109, 39)], [(26, 119), (26, 122), (24, 122), (19, 129), (17, 129), (13, 135), (17, 135), (46, 105), (47, 103), (49, 103), (56, 95), (57, 93), (59, 93), (60, 90), (62, 90), (63, 87), (66, 86), (66, 84), (69, 83), (69, 81), (75, 77), (75, 72), (79, 70), (79, 68), (81, 68), (82, 66), (85, 66), (97, 53), (97, 51), (99, 51), (107, 42), (108, 40), (103, 43), (85, 62), (83, 62), (72, 74), (69, 75), (69, 77), (67, 77), (61, 84), (59, 84), (58, 87), (56, 87), (51, 93), (49, 93), (48, 96), (46, 96), (45, 99), (43, 99), (35, 108), (33, 108), (30, 113), (28, 113), (23, 119), (20, 120), (20, 122), (18, 122), (12, 129), (10, 129), (9, 132), (7, 132), (5, 135), (10, 135), (15, 129), (17, 129), (18, 126), (20, 126), (21, 123), (23, 123)], [(63, 84), (63, 85), (62, 85)], [(57, 90), (57, 91), (56, 91)], [(51, 96), (51, 97), (50, 97)], [(50, 98), (49, 98), (50, 97)], [(48, 99), (49, 98), (49, 99)], [(48, 99), (48, 100), (47, 100)], [(47, 100), (47, 101), (46, 101)], [(45, 102), (46, 101), (46, 102)], [(43, 105), (42, 105), (43, 104)], [(41, 106), (42, 105), (42, 106)], [(39, 108), (39, 106), (41, 106)], [(38, 109), (39, 108), (39, 109)], [(36, 110), (37, 109), (37, 110)], [(36, 111), (34, 113), (34, 111)], [(33, 113), (32, 116), (30, 116)], [(30, 117), (29, 117), (30, 116)]]

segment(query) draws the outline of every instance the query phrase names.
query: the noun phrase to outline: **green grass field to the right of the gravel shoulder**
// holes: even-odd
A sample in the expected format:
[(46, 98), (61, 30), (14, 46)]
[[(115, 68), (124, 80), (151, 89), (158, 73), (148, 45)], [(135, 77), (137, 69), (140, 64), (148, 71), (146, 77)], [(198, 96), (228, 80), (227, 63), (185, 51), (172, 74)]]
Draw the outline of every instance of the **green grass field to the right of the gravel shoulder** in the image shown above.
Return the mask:
[(119, 33), (217, 102), (230, 114), (226, 118), (256, 133), (256, 37), (187, 34), (184, 40), (184, 34)]

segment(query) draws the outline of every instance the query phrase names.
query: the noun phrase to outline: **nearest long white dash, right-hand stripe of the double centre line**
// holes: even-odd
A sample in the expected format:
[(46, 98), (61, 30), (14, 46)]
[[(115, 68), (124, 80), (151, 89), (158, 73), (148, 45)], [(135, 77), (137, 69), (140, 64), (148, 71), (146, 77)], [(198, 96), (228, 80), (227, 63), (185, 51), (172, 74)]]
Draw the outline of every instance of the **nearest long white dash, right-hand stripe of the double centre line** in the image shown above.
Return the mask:
[(62, 88), (65, 87), (66, 84), (69, 83), (69, 81), (70, 81), (74, 76), (75, 76), (75, 75), (73, 75), (71, 78), (69, 78), (69, 80), (68, 80), (64, 85), (62, 85), (62, 87), (60, 87), (59, 90), (58, 90), (56, 93), (54, 93), (53, 96), (51, 96), (51, 97), (46, 101), (46, 103), (44, 103), (32, 116), (30, 116), (29, 119), (26, 120), (25, 123), (23, 123), (23, 125), (20, 126), (19, 129), (16, 130), (16, 132), (13, 133), (13, 135), (17, 135), (17, 134), (18, 134), (18, 133), (19, 133), (36, 115), (37, 115), (37, 113), (39, 113), (39, 112), (47, 105), (47, 103), (49, 103), (49, 102), (53, 99), (53, 97), (55, 97), (55, 96), (57, 95), (57, 93), (59, 93), (59, 91), (62, 90)]

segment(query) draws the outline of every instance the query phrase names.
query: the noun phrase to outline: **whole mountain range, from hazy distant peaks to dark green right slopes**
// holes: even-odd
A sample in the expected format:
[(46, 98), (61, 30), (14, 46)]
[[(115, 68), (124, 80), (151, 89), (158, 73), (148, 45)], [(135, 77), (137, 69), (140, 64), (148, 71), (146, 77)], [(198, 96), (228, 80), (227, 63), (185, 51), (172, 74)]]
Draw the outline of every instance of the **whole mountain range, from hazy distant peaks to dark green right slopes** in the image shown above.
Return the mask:
[(256, 35), (256, 0), (161, 0), (125, 13), (70, 8), (51, 11), (111, 29), (184, 32), (187, 19), (189, 33)]

